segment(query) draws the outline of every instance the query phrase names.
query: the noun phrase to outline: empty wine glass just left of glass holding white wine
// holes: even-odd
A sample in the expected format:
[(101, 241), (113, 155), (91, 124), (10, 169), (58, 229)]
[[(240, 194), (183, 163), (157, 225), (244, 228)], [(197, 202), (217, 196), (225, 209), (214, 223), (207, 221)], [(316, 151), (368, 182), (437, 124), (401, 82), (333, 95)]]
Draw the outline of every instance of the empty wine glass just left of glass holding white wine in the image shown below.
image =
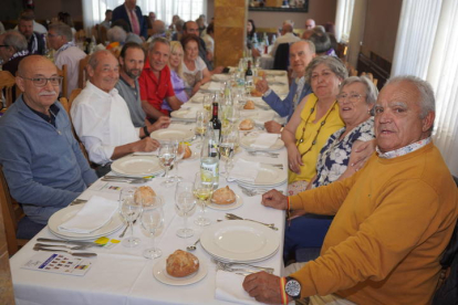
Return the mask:
[(188, 214), (196, 207), (196, 199), (192, 196), (192, 182), (181, 181), (177, 183), (175, 191), (175, 207), (179, 214), (183, 214), (185, 228), (178, 229), (177, 235), (184, 239), (194, 235), (194, 230), (188, 229)]

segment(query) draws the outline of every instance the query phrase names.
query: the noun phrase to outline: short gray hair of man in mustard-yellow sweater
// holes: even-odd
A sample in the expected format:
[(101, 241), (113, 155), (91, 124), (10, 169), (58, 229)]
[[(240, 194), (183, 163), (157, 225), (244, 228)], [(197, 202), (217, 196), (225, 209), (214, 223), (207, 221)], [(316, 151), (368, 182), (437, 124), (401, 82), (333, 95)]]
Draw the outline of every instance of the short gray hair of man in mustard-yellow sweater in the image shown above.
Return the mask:
[(436, 98), (434, 97), (434, 91), (431, 85), (417, 77), (417, 76), (413, 76), (413, 75), (400, 75), (400, 76), (394, 76), (391, 77), (386, 84), (385, 87), (389, 84), (397, 84), (397, 83), (402, 83), (402, 82), (408, 82), (410, 84), (413, 84), (416, 88), (417, 92), (420, 95), (420, 118), (425, 118), (430, 112), (435, 113), (436, 112)]

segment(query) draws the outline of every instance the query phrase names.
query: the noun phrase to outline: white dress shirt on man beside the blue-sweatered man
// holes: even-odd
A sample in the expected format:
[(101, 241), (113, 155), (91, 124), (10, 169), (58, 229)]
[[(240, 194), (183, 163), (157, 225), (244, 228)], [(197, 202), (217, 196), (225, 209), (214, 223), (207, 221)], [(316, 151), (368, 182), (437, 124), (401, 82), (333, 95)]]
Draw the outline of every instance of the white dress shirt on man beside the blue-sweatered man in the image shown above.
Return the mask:
[(90, 81), (72, 104), (73, 126), (91, 161), (111, 162), (115, 147), (139, 140), (126, 102), (113, 88), (106, 93)]

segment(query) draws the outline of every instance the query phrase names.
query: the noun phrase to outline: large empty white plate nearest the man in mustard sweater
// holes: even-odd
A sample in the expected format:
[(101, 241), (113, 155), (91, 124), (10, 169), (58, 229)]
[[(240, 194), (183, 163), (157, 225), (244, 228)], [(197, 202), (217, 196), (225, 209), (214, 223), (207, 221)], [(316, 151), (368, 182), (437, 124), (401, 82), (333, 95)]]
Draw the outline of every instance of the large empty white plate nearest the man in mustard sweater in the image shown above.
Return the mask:
[(200, 244), (211, 255), (228, 261), (266, 259), (280, 245), (279, 234), (266, 225), (244, 221), (221, 221), (207, 227)]

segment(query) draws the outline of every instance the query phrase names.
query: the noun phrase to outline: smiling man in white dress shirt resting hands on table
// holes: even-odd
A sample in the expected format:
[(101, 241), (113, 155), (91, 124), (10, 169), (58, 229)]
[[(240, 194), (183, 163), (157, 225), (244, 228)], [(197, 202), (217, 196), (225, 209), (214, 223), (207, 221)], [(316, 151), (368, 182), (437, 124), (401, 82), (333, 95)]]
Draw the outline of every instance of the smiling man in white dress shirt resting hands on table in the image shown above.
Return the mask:
[(119, 78), (119, 63), (113, 53), (95, 52), (87, 74), (90, 80), (73, 102), (71, 115), (91, 161), (106, 165), (132, 152), (156, 150), (159, 143), (148, 134), (168, 127), (168, 123), (158, 119), (148, 127), (134, 127), (126, 102), (114, 87)]

